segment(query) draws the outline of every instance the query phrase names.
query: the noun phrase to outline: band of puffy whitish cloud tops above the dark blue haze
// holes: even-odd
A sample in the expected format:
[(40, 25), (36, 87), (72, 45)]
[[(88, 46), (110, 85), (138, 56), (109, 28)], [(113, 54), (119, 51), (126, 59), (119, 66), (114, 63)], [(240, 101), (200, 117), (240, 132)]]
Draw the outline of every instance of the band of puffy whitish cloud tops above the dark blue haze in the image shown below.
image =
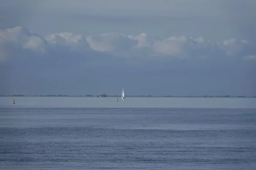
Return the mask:
[[(146, 33), (129, 36), (120, 33), (103, 33), (85, 37), (72, 32), (52, 33), (43, 38), (22, 27), (1, 30), (0, 44), (2, 44), (1, 60), (6, 58), (3, 57), (6, 55), (6, 46), (20, 47), (35, 52), (45, 52), (51, 49), (57, 52), (69, 50), (82, 54), (94, 50), (118, 56), (140, 58), (143, 56), (160, 57), (162, 55), (175, 56), (180, 59), (207, 59), (218, 55), (225, 57), (224, 54), (242, 58), (242, 56), (251, 56), (256, 53), (255, 45), (248, 40), (226, 39), (222, 43), (213, 43), (203, 36), (195, 39), (186, 36), (171, 36), (160, 39), (158, 36)], [(248, 59), (248, 57), (244, 59)]]

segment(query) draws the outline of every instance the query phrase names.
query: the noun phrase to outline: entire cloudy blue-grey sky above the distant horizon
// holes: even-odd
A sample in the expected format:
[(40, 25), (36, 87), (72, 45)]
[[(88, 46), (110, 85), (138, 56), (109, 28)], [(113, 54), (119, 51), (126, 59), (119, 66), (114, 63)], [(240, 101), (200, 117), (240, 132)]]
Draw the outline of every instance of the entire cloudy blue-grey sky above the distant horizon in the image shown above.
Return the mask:
[(2, 0), (0, 95), (256, 95), (254, 0)]

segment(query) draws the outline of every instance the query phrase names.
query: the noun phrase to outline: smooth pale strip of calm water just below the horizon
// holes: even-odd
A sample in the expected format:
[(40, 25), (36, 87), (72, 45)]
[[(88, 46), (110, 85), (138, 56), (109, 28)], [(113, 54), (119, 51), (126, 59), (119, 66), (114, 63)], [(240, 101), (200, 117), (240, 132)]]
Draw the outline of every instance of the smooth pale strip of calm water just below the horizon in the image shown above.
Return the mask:
[[(12, 98), (15, 104), (12, 104)], [(0, 107), (256, 108), (256, 98), (0, 97)]]

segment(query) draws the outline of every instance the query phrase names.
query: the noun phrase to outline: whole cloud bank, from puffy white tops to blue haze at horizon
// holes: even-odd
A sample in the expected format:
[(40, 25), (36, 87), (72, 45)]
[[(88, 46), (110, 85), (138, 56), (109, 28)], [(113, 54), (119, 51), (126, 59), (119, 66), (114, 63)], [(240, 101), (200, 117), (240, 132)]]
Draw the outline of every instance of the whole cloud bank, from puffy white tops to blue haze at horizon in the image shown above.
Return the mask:
[[(239, 79), (243, 74), (246, 75), (244, 81), (255, 85), (255, 77), (248, 77), (248, 72), (255, 71), (255, 56), (256, 45), (244, 39), (231, 38), (212, 42), (203, 36), (171, 36), (161, 39), (159, 36), (147, 33), (139, 35), (102, 33), (84, 36), (72, 32), (51, 33), (42, 37), (26, 28), (15, 27), (0, 31), (0, 85), (3, 87), (0, 93), (35, 94), (39, 91), (44, 94), (49, 92), (55, 94), (72, 92), (73, 88), (74, 94), (81, 94), (83, 86), (87, 86), (87, 89), (92, 89), (92, 93), (101, 89), (104, 91), (111, 89), (110, 93), (115, 94), (112, 86), (121, 81), (122, 75), (125, 76), (124, 82), (130, 84), (136, 94), (150, 93), (155, 83), (147, 85), (148, 87), (140, 91), (141, 89), (134, 90), (136, 85), (131, 81), (141, 82), (140, 88), (148, 84), (150, 79), (162, 81), (166, 84), (165, 88), (168, 88), (173, 86), (172, 80), (181, 83), (182, 81), (183, 83), (203, 82), (207, 77), (204, 75), (206, 72), (211, 76), (211, 80), (216, 79), (216, 82), (228, 80), (226, 86), (230, 86), (232, 79)], [(157, 74), (162, 78), (160, 79)], [(179, 80), (181, 77), (182, 80)], [(167, 81), (166, 78), (170, 80)], [(105, 83), (100, 83), (100, 80)], [(18, 88), (13, 87), (15, 81), (19, 84)], [(79, 83), (82, 85), (77, 85)], [(163, 85), (156, 88), (163, 88), (160, 86)], [(199, 83), (191, 85), (190, 90), (198, 86)], [(222, 92), (234, 93), (238, 85), (233, 86), (233, 91), (226, 89), (226, 92), (225, 90)], [(188, 87), (184, 86), (184, 88)], [(240, 91), (242, 92), (241, 87)], [(84, 92), (89, 94), (90, 90)], [(222, 92), (217, 89), (212, 91), (217, 93), (216, 95)], [(245, 93), (253, 92), (255, 89), (250, 88)], [(172, 90), (167, 93), (172, 93)], [(204, 94), (207, 95), (206, 87)], [(178, 92), (177, 95), (183, 94)], [(190, 94), (187, 92), (186, 95)]]

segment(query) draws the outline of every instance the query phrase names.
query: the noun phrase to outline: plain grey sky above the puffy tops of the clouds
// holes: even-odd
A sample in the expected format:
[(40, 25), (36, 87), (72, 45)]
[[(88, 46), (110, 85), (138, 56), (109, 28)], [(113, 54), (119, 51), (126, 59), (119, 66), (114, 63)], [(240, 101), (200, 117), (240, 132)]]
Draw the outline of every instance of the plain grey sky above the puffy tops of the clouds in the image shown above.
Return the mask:
[[(3, 0), (1, 29), (23, 26), (43, 36), (71, 31), (83, 35), (142, 32), (241, 38), (254, 26), (253, 0)], [(246, 29), (247, 28), (247, 29)], [(246, 30), (246, 31), (245, 31)]]

